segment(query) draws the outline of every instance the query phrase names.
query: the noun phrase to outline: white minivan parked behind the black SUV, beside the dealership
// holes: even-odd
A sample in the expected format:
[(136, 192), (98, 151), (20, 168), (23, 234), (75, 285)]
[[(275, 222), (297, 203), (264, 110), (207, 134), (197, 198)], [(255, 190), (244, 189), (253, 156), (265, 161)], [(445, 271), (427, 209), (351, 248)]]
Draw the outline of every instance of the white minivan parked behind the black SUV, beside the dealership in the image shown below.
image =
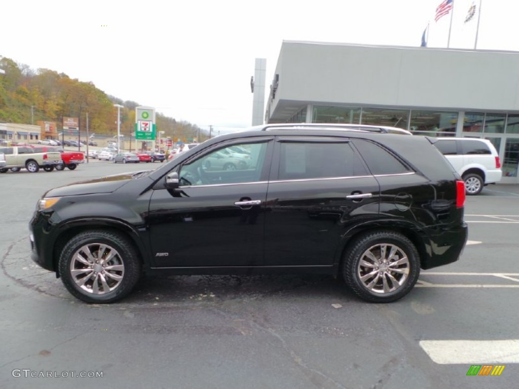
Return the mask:
[(484, 186), (501, 180), (501, 161), (489, 140), (449, 136), (432, 140), (463, 178), (467, 195), (479, 195)]

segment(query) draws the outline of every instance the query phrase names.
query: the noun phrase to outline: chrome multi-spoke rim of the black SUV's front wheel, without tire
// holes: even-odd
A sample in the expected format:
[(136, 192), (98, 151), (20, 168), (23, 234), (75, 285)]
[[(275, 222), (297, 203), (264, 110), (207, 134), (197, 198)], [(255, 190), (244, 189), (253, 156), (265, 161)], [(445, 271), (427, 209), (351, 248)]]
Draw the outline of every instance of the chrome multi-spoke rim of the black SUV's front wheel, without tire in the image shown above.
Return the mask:
[(89, 243), (74, 253), (70, 274), (76, 285), (87, 293), (104, 295), (120, 285), (125, 266), (115, 248)]

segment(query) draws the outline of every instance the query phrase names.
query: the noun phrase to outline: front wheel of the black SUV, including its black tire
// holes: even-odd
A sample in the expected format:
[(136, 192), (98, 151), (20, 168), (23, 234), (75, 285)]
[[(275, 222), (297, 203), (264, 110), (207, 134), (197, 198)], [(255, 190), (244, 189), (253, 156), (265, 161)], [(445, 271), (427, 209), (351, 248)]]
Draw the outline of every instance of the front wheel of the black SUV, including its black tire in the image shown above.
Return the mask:
[[(108, 255), (105, 263), (102, 263), (103, 254), (99, 255), (100, 249)], [(83, 260), (77, 260), (79, 257)], [(141, 263), (130, 240), (117, 232), (104, 230), (77, 234), (63, 247), (58, 266), (67, 290), (89, 303), (103, 304), (122, 299), (130, 293), (141, 274)]]

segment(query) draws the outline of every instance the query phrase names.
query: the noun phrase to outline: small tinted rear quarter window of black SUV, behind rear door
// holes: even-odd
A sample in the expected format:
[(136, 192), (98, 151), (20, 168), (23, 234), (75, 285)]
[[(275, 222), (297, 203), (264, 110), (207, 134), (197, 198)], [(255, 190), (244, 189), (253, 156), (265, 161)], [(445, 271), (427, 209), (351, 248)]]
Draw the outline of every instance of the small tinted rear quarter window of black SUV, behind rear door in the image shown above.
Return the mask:
[(355, 140), (353, 143), (359, 149), (368, 168), (375, 175), (401, 174), (412, 171), (388, 150), (375, 143), (362, 140)]

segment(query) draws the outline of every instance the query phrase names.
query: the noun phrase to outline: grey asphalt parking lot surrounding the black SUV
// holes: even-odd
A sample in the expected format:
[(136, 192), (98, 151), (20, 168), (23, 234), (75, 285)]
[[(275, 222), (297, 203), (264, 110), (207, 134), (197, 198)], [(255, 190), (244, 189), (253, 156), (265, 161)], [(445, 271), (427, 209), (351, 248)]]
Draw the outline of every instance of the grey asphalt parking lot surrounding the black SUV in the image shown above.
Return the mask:
[[(516, 386), (519, 185), (469, 197), (462, 258), (391, 304), (332, 277), (283, 275), (148, 277), (120, 303), (89, 305), (33, 264), (28, 223), (45, 190), (158, 165), (0, 175), (2, 387)], [(504, 368), (467, 376), (473, 365)]]

